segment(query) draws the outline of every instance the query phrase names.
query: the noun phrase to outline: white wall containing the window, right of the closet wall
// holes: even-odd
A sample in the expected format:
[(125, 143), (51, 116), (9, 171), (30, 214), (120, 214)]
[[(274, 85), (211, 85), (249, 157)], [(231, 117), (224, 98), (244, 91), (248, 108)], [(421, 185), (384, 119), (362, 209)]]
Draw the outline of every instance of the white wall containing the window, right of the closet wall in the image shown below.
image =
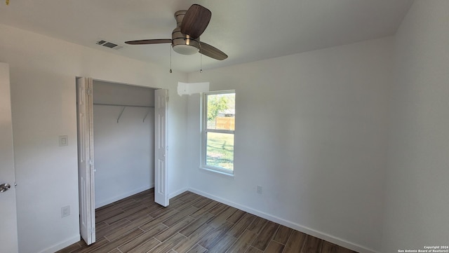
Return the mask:
[(192, 191), (379, 251), (392, 49), (387, 37), (189, 74), (236, 90), (234, 179), (199, 170), (199, 95), (189, 97)]

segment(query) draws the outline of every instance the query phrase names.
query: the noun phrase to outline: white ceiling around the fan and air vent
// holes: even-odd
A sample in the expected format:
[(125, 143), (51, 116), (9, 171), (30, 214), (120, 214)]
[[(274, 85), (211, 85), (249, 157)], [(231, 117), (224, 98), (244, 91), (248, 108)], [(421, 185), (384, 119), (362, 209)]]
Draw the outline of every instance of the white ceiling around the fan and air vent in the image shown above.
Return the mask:
[[(124, 41), (170, 39), (175, 11), (201, 4), (212, 19), (201, 36), (229, 55), (203, 56), (203, 69), (302, 53), (389, 36), (413, 0), (10, 0), (0, 23), (170, 68), (170, 45)], [(95, 44), (105, 39), (120, 50)], [(200, 56), (173, 52), (173, 69), (198, 71)]]

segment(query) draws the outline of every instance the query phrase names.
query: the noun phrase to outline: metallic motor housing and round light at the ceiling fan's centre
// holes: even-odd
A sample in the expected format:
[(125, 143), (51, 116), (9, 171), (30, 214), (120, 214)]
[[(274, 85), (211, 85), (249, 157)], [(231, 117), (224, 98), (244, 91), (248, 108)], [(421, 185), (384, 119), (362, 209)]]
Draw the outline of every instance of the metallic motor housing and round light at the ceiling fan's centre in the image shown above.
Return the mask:
[(199, 38), (192, 38), (188, 34), (182, 34), (181, 23), (187, 11), (175, 13), (176, 28), (171, 34), (173, 50), (182, 55), (194, 55), (199, 52)]

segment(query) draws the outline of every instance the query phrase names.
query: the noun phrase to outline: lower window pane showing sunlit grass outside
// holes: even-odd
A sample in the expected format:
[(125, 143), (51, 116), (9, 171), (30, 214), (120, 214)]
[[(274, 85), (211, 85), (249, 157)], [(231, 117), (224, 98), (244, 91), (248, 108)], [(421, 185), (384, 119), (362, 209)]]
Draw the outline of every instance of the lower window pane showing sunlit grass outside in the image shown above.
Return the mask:
[(234, 135), (208, 132), (206, 165), (234, 170)]

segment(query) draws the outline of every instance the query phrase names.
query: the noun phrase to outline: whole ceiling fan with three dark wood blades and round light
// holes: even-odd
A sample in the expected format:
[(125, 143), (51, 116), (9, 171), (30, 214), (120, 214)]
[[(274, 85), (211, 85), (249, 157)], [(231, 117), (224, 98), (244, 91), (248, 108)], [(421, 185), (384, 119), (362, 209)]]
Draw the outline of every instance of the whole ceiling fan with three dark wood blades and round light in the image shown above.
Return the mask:
[(227, 55), (218, 48), (200, 41), (199, 36), (209, 24), (212, 13), (199, 4), (190, 6), (187, 11), (175, 13), (176, 28), (171, 39), (142, 39), (139, 41), (126, 41), (130, 45), (171, 43), (173, 50), (182, 55), (201, 53), (216, 60), (225, 60)]

